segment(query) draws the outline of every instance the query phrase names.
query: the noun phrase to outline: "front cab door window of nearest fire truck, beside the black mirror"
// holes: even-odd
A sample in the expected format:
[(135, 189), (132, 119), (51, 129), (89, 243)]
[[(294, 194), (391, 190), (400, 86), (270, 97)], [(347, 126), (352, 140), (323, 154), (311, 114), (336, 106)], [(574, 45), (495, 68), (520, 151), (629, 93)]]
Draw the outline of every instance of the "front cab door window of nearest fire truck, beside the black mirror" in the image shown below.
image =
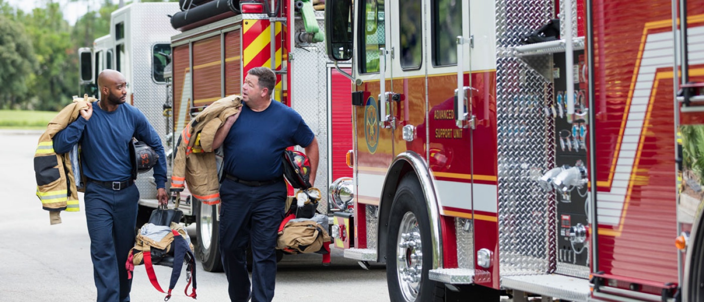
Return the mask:
[(362, 18), (360, 19), (360, 30), (363, 34), (359, 37), (360, 46), (360, 72), (379, 72), (379, 49), (386, 45), (386, 33), (384, 32), (384, 0), (365, 0), (360, 6)]

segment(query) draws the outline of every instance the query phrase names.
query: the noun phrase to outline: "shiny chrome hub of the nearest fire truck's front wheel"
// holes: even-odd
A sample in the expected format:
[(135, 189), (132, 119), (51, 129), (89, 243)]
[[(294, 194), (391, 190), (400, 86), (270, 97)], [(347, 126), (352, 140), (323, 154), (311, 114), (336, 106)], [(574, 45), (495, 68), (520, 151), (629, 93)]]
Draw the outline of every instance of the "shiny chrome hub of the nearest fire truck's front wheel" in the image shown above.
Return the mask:
[(406, 301), (415, 301), (423, 272), (423, 248), (418, 221), (411, 212), (401, 219), (397, 243), (396, 274), (401, 293)]

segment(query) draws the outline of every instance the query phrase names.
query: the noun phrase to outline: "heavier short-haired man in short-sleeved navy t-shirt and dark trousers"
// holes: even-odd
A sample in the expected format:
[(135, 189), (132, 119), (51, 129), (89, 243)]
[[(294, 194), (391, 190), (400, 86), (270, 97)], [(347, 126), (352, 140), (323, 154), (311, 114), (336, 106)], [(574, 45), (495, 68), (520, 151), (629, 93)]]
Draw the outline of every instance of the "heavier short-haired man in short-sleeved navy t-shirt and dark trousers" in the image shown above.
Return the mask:
[[(310, 160), (310, 184), (318, 170), (318, 140), (301, 115), (271, 100), (276, 76), (252, 68), (242, 84), (244, 106), (227, 118), (213, 140), (223, 146), (225, 177), (220, 187), (220, 253), (230, 300), (269, 302), (276, 281), (276, 240), (287, 196), (284, 149), (303, 146)], [(252, 280), (246, 266), (251, 243)]]

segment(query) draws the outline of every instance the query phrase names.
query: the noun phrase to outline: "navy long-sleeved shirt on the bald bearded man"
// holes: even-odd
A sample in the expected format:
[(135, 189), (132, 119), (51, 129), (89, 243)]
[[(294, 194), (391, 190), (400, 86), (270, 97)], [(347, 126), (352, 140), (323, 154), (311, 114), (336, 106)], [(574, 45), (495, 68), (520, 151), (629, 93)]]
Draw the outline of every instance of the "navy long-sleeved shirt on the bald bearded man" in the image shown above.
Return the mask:
[(92, 180), (103, 182), (125, 181), (132, 177), (130, 140), (144, 141), (159, 156), (154, 165), (157, 188), (165, 187), (166, 156), (161, 139), (144, 113), (127, 103), (113, 112), (103, 111), (93, 104), (90, 120), (79, 116), (54, 136), (54, 151), (66, 153), (81, 143), (83, 173)]

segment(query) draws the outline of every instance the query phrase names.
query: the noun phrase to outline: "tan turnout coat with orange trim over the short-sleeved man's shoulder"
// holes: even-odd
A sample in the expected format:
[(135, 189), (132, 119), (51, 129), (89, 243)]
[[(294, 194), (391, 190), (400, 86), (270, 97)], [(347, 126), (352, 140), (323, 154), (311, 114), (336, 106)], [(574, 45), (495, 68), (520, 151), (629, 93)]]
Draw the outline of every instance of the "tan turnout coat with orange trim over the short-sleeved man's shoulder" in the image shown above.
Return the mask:
[(220, 203), (220, 181), (213, 140), (215, 132), (241, 106), (239, 95), (227, 96), (210, 104), (186, 125), (176, 150), (171, 191), (183, 191), (186, 182), (196, 201), (208, 205)]

